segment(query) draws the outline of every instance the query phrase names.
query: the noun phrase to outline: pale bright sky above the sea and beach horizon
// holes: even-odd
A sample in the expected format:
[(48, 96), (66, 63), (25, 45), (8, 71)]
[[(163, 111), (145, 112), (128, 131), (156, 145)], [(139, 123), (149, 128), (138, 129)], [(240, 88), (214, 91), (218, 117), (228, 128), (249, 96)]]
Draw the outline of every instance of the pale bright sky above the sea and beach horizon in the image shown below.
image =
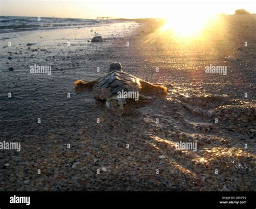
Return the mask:
[[(215, 0), (0, 0), (1, 16), (90, 18), (98, 16), (119, 18), (157, 18), (184, 13), (233, 14), (236, 9), (256, 13), (256, 1)], [(203, 17), (204, 15), (202, 15)]]

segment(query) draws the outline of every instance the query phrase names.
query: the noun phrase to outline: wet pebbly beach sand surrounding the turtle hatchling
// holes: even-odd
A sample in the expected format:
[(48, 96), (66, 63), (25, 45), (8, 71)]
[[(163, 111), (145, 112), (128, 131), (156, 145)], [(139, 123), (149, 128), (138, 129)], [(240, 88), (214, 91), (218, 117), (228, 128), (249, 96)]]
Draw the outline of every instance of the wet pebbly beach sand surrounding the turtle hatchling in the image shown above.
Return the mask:
[[(255, 191), (255, 16), (223, 18), (204, 39), (177, 40), (158, 32), (157, 20), (140, 20), (117, 26), (118, 36), (98, 32), (103, 43), (69, 29), (3, 48), (1, 141), (21, 142), (21, 151), (1, 150), (0, 190)], [(52, 75), (30, 74), (45, 60)], [(73, 81), (96, 79), (111, 62), (166, 85), (167, 95), (119, 116), (75, 90)], [(227, 66), (227, 75), (205, 73), (208, 65)], [(180, 141), (197, 142), (197, 151), (177, 150)]]

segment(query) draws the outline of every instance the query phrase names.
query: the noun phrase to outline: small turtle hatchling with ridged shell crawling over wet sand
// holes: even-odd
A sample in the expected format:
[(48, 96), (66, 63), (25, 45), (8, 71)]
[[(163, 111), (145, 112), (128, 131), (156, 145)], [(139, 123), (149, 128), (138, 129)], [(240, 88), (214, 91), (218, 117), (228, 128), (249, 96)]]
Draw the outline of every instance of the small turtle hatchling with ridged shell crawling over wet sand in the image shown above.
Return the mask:
[(77, 87), (92, 88), (93, 95), (97, 100), (105, 100), (106, 107), (123, 109), (126, 100), (151, 99), (149, 94), (166, 94), (165, 86), (154, 85), (134, 75), (126, 73), (120, 63), (110, 64), (107, 75), (102, 78), (84, 82), (77, 80)]

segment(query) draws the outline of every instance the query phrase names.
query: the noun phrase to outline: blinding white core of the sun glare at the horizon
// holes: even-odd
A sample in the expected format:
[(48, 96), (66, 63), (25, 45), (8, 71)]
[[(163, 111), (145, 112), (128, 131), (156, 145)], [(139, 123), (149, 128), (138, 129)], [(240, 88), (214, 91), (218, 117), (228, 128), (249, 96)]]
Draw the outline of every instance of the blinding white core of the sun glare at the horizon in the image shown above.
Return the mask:
[(186, 12), (185, 14), (171, 14), (166, 17), (166, 24), (161, 31), (170, 31), (177, 37), (194, 37), (211, 25), (213, 15), (200, 12)]

